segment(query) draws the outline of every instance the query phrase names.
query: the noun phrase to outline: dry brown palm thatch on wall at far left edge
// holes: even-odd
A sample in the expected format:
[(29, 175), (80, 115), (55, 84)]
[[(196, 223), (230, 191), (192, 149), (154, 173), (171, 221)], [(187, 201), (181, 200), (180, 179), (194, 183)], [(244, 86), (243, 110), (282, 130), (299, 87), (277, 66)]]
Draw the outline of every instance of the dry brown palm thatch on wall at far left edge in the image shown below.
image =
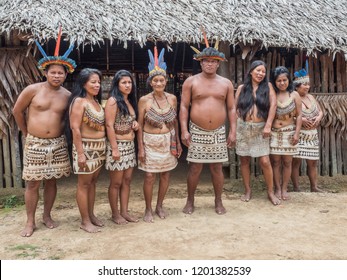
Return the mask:
[(41, 77), (36, 64), (26, 48), (0, 48), (0, 139), (15, 127), (11, 110), (16, 96)]

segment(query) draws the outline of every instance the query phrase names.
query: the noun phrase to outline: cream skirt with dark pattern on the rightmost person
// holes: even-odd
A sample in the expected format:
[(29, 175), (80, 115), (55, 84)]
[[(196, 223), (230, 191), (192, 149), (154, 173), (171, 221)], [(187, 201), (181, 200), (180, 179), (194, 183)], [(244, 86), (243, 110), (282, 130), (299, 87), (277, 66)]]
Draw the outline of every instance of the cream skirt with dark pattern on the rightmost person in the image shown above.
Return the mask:
[(294, 157), (319, 160), (319, 139), (317, 129), (300, 130), (298, 150), (299, 154)]

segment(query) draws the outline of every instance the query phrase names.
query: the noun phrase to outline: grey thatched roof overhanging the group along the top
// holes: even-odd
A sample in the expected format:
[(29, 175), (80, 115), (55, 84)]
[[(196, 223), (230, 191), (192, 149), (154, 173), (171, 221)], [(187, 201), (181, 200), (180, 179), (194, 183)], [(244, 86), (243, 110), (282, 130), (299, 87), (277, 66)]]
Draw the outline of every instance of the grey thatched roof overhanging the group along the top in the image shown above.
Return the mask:
[[(77, 44), (148, 38), (254, 44), (347, 53), (346, 0), (1, 0), (0, 34), (19, 30), (47, 40), (58, 25)], [(347, 57), (346, 57), (347, 58)]]

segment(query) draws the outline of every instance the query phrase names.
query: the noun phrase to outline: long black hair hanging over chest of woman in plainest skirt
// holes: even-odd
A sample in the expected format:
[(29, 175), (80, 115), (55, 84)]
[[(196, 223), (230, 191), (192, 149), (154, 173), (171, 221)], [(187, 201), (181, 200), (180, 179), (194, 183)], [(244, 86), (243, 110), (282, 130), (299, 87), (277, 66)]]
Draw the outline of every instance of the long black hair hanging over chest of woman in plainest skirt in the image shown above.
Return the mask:
[(255, 98), (253, 96), (253, 85), (252, 85), (251, 72), (260, 65), (263, 65), (266, 69), (265, 62), (263, 62), (261, 60), (255, 60), (251, 63), (251, 65), (247, 71), (245, 81), (244, 81), (243, 87), (241, 89), (239, 98), (238, 98), (236, 110), (244, 121), (246, 121), (247, 114), (252, 109), (254, 104), (258, 108), (257, 117), (266, 120), (268, 117), (268, 114), (269, 114), (270, 88), (269, 88), (268, 79), (266, 76), (259, 83)]

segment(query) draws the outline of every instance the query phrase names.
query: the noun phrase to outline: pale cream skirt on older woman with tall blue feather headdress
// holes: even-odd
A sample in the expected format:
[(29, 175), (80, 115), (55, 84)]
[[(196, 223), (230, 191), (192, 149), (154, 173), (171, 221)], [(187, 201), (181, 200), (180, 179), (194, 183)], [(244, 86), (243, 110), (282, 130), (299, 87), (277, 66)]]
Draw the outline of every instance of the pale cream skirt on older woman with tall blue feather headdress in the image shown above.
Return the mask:
[(177, 158), (170, 151), (171, 133), (150, 134), (143, 132), (145, 162), (139, 169), (146, 172), (165, 172), (177, 166)]

